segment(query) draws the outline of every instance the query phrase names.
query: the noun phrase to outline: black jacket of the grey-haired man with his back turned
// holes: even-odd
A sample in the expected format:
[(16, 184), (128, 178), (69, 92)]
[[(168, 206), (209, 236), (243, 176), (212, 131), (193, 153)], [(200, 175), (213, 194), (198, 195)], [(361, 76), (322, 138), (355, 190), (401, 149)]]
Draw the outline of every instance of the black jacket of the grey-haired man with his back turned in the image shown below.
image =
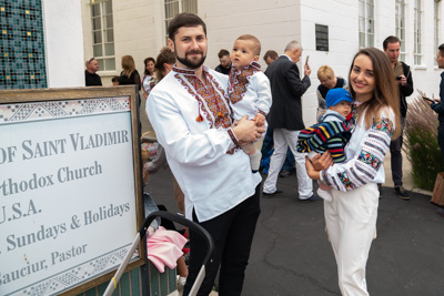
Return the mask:
[(299, 69), (286, 55), (281, 55), (265, 71), (270, 80), (273, 103), (266, 118), (270, 127), (301, 131), (301, 96), (310, 88), (310, 78), (300, 79)]

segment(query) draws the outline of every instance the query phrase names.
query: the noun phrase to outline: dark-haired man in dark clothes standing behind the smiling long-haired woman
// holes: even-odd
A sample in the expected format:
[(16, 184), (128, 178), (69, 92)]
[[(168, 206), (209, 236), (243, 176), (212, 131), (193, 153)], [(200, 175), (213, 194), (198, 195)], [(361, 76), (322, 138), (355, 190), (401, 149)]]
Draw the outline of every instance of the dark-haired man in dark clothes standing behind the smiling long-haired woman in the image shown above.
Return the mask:
[[(390, 35), (383, 42), (384, 52), (389, 58), (390, 63), (392, 64), (394, 71), (394, 78), (396, 80), (396, 84), (400, 88), (400, 108), (401, 108), (401, 124), (402, 131), (401, 136), (392, 141), (390, 144), (390, 154), (391, 154), (391, 165), (392, 165), (392, 178), (394, 184), (394, 191), (400, 196), (400, 198), (404, 201), (408, 201), (408, 193), (403, 187), (403, 172), (402, 172), (402, 144), (403, 144), (403, 130), (405, 124), (405, 116), (407, 114), (407, 102), (405, 100), (406, 96), (413, 93), (413, 80), (412, 72), (410, 71), (410, 67), (401, 61), (400, 58), (400, 49), (401, 49), (401, 40), (397, 37)], [(379, 186), (381, 186), (379, 184)], [(380, 197), (381, 197), (380, 190)]]

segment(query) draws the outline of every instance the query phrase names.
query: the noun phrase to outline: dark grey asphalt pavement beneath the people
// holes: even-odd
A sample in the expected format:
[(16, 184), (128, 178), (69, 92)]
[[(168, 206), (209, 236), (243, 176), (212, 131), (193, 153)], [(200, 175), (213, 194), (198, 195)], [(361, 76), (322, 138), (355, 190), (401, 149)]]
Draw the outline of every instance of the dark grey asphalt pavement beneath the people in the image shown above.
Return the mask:
[[(412, 185), (406, 161), (404, 186), (410, 191), (410, 201), (393, 192), (390, 164), (384, 163), (387, 181), (380, 200), (377, 238), (367, 263), (369, 292), (377, 296), (442, 296), (444, 218), (430, 203), (431, 193)], [(246, 268), (244, 296), (341, 295), (334, 255), (324, 232), (323, 202), (300, 203), (296, 182), (295, 174), (280, 177), (278, 187), (284, 192), (261, 196), (262, 213)], [(169, 212), (178, 211), (169, 169), (151, 175), (145, 190), (157, 204), (165, 205)]]

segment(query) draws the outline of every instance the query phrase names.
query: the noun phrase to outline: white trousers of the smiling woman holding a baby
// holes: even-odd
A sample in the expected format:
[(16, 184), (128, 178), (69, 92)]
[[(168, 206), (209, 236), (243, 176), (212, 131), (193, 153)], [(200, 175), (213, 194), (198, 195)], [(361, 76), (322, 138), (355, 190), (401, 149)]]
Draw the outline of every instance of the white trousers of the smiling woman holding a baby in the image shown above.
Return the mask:
[(374, 183), (340, 192), (331, 190), (332, 201), (324, 202), (330, 242), (337, 264), (343, 296), (369, 295), (365, 266), (377, 217), (379, 191)]

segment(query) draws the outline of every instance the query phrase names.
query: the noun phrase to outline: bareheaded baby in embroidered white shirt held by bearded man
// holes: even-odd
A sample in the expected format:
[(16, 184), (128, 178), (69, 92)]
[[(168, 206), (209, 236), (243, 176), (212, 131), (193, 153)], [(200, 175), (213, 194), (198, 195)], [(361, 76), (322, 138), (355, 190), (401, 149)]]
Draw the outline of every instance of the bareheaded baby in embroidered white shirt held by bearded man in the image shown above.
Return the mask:
[[(270, 81), (258, 63), (260, 54), (261, 42), (254, 35), (244, 34), (234, 41), (228, 88), (234, 124), (244, 115), (254, 120), (256, 125), (266, 124), (265, 118), (271, 106), (271, 90)], [(262, 154), (255, 149), (254, 143), (242, 146), (242, 150), (250, 156), (251, 170), (259, 171)]]

